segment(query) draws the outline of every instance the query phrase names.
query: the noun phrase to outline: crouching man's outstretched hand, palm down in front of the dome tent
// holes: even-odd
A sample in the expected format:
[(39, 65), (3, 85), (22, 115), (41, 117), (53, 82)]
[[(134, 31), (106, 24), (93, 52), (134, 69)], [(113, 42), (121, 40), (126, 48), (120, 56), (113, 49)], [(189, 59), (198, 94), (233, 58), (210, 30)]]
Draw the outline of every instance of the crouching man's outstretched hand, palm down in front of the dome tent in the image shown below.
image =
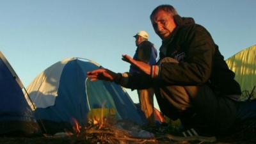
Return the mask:
[(111, 72), (108, 69), (101, 68), (98, 70), (93, 70), (92, 72), (87, 72), (87, 77), (91, 79), (91, 81), (98, 81), (98, 80), (114, 81), (116, 77), (116, 73)]

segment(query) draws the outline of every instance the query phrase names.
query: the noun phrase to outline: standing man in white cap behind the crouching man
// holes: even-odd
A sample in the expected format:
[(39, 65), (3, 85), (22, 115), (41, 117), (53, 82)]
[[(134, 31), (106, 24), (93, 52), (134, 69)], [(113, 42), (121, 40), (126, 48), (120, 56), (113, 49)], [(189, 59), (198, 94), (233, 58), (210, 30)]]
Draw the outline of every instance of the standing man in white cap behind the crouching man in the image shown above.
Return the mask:
[[(148, 41), (149, 35), (147, 31), (139, 31), (136, 35), (134, 35), (134, 38), (137, 49), (133, 59), (142, 61), (148, 65), (156, 65), (157, 51), (154, 44)], [(129, 73), (143, 74), (143, 72), (141, 72), (139, 68), (134, 67), (134, 65), (131, 65)], [(147, 124), (154, 125), (154, 89), (148, 88), (137, 90), (137, 92), (140, 100), (140, 108), (147, 118)]]

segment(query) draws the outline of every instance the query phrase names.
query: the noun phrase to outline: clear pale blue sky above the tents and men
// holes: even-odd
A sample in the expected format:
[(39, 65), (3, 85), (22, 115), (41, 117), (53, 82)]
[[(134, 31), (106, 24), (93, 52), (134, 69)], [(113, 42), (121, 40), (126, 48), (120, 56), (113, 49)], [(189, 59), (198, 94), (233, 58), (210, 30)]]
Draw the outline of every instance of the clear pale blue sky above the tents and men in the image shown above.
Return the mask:
[[(225, 59), (256, 44), (253, 0), (0, 0), (0, 51), (25, 86), (70, 57), (126, 72), (129, 64), (121, 56), (134, 54), (137, 31), (148, 31), (161, 46), (149, 19), (159, 4), (172, 4), (182, 17), (207, 28)], [(138, 102), (136, 92), (128, 92)]]

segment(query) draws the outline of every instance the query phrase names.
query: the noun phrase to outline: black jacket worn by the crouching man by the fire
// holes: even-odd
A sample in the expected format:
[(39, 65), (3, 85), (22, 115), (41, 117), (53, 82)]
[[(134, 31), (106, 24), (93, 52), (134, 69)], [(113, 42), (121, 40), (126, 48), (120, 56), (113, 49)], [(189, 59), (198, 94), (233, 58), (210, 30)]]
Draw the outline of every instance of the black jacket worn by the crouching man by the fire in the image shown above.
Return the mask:
[(209, 32), (191, 18), (175, 15), (174, 20), (177, 28), (170, 39), (163, 41), (159, 61), (171, 57), (179, 63), (162, 63), (156, 79), (145, 75), (131, 76), (127, 87), (208, 84), (221, 95), (240, 95), (241, 88), (234, 80), (235, 74), (229, 70)]

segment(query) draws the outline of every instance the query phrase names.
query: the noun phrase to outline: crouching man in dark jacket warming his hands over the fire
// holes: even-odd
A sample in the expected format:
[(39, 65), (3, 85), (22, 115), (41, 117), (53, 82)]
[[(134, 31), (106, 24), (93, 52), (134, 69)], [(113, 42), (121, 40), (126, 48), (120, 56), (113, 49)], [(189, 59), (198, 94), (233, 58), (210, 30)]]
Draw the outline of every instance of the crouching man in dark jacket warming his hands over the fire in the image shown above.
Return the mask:
[[(225, 136), (241, 131), (248, 120), (255, 127), (256, 101), (239, 102), (241, 88), (209, 32), (191, 18), (180, 17), (171, 5), (157, 6), (150, 15), (163, 40), (157, 65), (123, 55), (145, 74), (120, 74), (108, 69), (88, 72), (92, 81), (114, 81), (126, 88), (154, 87), (164, 115), (180, 118), (186, 129)], [(246, 124), (246, 125), (248, 125)]]

